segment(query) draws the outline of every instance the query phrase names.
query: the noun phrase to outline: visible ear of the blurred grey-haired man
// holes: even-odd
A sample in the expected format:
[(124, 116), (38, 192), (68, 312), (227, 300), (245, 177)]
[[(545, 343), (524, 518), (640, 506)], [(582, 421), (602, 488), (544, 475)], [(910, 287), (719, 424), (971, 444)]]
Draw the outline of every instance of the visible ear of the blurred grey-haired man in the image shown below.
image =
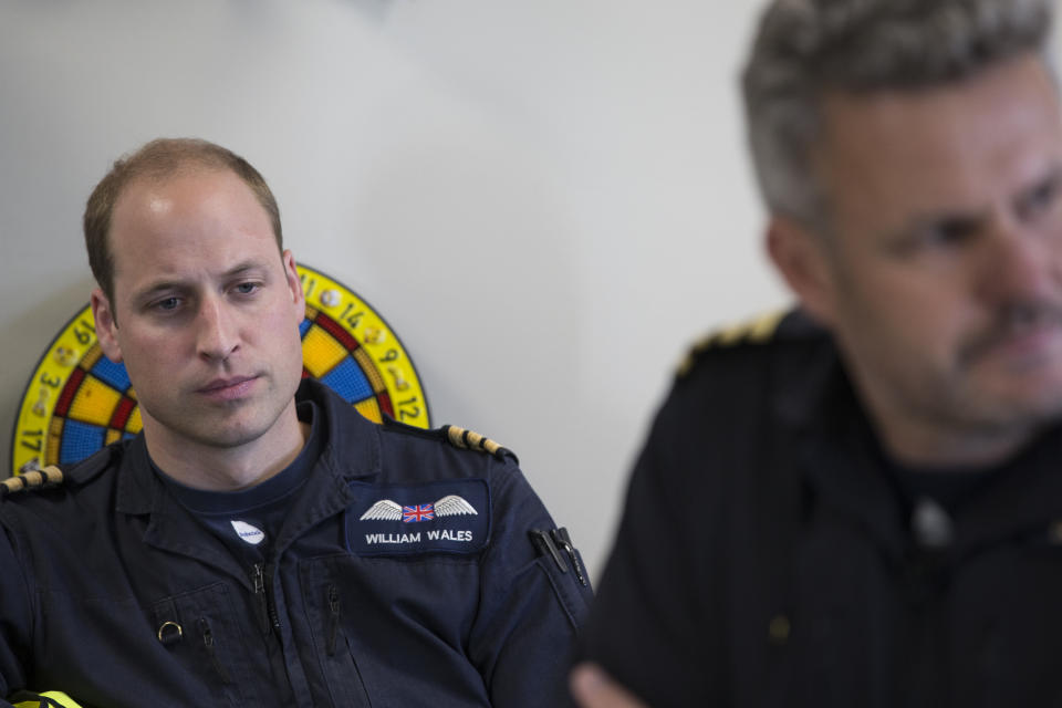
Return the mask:
[(827, 238), (783, 217), (773, 217), (767, 230), (774, 267), (804, 311), (829, 326), (836, 316), (837, 282)]

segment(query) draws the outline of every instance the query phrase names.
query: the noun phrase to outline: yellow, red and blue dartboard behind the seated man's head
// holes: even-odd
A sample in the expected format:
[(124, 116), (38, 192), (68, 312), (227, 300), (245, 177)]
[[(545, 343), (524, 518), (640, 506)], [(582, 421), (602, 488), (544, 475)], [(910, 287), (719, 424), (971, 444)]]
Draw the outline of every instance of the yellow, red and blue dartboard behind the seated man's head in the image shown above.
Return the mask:
[[(428, 402), (413, 360), (368, 303), (324, 273), (299, 267), (306, 296), (302, 375), (327, 384), (375, 423), (386, 414), (427, 428)], [(140, 431), (123, 364), (103, 355), (92, 309), (79, 311), (38, 362), (11, 439), (12, 473), (70, 465)]]

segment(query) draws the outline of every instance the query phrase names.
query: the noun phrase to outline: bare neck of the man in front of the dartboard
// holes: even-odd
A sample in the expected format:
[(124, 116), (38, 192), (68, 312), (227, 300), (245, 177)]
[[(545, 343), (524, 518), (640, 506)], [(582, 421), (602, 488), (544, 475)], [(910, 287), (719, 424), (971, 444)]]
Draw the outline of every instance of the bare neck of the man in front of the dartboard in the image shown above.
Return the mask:
[(175, 436), (145, 416), (144, 436), (152, 460), (167, 476), (195, 489), (236, 491), (259, 485), (299, 457), (310, 436), (294, 400), (263, 435), (235, 447), (218, 447)]

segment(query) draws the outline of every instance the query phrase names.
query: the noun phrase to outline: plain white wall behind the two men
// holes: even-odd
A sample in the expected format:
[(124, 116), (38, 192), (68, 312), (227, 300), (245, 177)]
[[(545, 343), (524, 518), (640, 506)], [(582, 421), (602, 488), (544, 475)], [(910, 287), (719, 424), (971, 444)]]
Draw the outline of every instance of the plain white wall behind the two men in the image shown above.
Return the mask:
[(201, 136), (388, 319), (435, 423), (520, 455), (596, 577), (687, 343), (787, 301), (737, 101), (759, 4), (0, 0), (0, 469), (87, 301), (92, 186)]

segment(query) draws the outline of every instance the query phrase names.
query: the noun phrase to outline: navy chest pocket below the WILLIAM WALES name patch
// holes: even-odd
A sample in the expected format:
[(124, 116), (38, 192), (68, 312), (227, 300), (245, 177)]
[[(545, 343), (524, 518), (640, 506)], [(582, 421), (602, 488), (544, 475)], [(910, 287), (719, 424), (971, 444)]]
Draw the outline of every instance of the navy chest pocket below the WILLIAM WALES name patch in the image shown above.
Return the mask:
[(478, 564), (450, 554), (336, 555), (300, 563), (300, 584), (335, 706), (489, 706), (467, 655)]

